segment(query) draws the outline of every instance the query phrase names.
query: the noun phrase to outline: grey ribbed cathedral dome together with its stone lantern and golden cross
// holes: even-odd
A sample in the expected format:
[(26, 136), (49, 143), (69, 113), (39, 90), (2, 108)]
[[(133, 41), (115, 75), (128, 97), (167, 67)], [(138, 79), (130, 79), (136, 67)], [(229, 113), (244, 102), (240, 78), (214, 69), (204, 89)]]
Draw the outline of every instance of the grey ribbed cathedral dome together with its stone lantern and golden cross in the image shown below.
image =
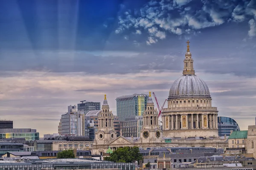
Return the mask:
[(176, 79), (169, 91), (169, 99), (187, 96), (206, 96), (210, 97), (207, 84), (195, 75), (193, 59), (187, 41), (187, 51), (184, 59), (183, 75)]

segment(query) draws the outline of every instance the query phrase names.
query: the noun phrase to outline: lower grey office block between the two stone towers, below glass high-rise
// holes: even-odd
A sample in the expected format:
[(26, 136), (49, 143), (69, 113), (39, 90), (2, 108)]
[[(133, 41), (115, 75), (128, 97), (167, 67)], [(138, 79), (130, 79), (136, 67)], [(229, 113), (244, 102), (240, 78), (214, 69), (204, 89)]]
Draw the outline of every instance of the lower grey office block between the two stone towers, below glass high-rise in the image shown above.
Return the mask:
[(140, 130), (143, 127), (143, 116), (131, 116), (121, 122), (122, 135), (125, 137), (140, 137)]

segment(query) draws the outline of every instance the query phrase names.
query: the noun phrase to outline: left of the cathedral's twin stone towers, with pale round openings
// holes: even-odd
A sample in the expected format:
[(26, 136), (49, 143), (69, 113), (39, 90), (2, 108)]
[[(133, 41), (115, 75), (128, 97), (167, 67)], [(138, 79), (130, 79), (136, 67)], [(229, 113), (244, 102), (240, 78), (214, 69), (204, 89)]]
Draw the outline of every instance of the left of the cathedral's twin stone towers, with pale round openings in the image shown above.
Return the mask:
[(99, 126), (95, 132), (95, 140), (98, 144), (106, 144), (111, 140), (116, 139), (116, 131), (114, 130), (114, 116), (112, 111), (109, 111), (109, 105), (105, 94), (105, 99), (102, 105), (102, 111), (98, 114)]

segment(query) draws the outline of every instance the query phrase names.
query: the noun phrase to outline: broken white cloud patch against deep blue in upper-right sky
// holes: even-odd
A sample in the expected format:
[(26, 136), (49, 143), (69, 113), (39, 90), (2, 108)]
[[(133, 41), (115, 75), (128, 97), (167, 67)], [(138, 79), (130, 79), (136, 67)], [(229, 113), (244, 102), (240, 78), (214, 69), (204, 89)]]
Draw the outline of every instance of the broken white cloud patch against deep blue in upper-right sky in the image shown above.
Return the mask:
[[(142, 8), (120, 14), (116, 33), (130, 28), (148, 30), (147, 44), (166, 38), (166, 33), (191, 34), (196, 30), (220, 26), (224, 23), (243, 22), (256, 18), (255, 2), (238, 0), (202, 0), (197, 6), (188, 6), (191, 0), (161, 0), (146, 3)], [(254, 6), (254, 7), (253, 7)], [(252, 22), (252, 21), (251, 21)], [(250, 37), (254, 37), (250, 24)], [(190, 30), (190, 31), (187, 31)], [(252, 30), (252, 31), (251, 31)], [(137, 32), (136, 32), (137, 33)], [(141, 32), (137, 33), (141, 34)], [(149, 40), (150, 39), (150, 40)]]

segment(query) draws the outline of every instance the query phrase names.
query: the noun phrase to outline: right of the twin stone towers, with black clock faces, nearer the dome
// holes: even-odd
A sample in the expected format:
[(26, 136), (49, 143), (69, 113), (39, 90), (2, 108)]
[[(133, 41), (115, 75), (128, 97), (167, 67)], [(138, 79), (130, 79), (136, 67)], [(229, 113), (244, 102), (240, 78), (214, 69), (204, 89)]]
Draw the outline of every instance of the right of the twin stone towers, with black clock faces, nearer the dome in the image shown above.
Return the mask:
[(149, 92), (146, 110), (143, 113), (143, 129), (140, 131), (140, 139), (143, 143), (161, 142), (162, 130), (159, 128), (158, 112), (154, 109), (154, 102)]

